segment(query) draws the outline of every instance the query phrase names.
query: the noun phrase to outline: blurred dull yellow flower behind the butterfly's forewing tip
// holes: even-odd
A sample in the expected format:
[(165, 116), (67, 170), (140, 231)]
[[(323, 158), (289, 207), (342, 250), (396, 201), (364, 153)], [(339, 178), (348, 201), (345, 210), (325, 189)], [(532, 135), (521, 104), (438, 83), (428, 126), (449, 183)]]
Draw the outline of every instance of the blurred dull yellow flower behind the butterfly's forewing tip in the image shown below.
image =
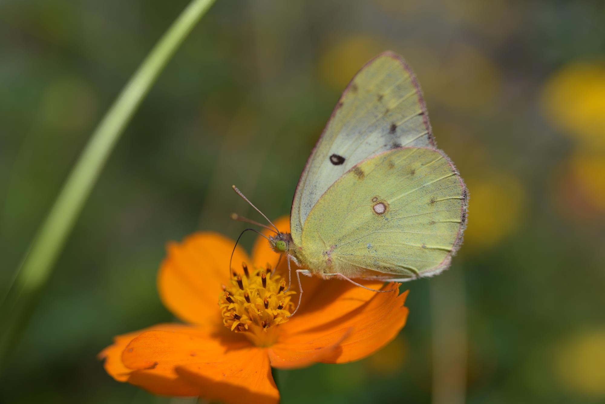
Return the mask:
[(333, 41), (319, 58), (319, 77), (333, 88), (342, 90), (360, 66), (387, 48), (384, 41), (367, 35)]

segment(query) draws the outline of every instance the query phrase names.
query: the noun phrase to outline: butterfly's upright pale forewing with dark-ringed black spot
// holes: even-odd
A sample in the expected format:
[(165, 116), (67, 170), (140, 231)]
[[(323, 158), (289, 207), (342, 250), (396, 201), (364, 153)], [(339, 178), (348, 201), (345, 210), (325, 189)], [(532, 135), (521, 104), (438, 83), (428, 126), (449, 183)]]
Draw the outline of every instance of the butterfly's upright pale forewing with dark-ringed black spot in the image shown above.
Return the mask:
[(307, 216), (339, 177), (372, 155), (406, 146), (434, 147), (427, 109), (410, 68), (385, 52), (347, 86), (307, 161), (290, 213), (295, 243), (301, 242)]

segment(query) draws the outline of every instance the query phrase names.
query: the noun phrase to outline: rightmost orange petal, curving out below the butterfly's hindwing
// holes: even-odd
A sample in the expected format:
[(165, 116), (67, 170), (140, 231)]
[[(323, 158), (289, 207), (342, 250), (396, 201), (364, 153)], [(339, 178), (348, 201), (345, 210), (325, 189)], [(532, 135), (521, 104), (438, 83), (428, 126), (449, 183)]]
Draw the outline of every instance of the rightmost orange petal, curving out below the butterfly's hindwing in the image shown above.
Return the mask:
[[(384, 290), (398, 287), (390, 283)], [(388, 344), (404, 327), (408, 316), (408, 308), (404, 307), (408, 292), (399, 296), (396, 293), (376, 293), (367, 304), (358, 307), (346, 316), (328, 322), (313, 330), (298, 334), (284, 334), (281, 342), (289, 340), (313, 339), (317, 334), (334, 333), (339, 330), (353, 328), (350, 335), (340, 344), (341, 352), (338, 357), (321, 358), (324, 363), (344, 363), (362, 359)]]

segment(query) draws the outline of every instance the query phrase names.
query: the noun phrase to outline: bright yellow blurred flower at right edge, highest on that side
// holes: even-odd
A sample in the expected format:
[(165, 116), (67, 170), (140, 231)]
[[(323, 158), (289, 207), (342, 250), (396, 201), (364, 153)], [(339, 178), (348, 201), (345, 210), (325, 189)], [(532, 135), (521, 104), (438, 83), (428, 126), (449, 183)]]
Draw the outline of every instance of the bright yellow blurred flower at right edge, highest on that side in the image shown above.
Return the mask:
[(552, 74), (541, 106), (552, 125), (591, 145), (605, 145), (605, 64), (577, 62)]

